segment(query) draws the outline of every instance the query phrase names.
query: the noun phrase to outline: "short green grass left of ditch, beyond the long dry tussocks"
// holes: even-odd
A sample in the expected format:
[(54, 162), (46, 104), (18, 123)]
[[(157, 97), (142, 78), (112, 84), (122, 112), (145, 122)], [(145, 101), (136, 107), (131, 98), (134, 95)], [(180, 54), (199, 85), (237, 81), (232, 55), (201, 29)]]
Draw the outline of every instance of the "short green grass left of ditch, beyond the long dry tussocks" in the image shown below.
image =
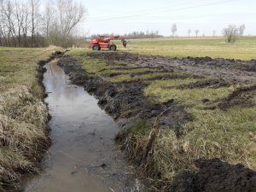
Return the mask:
[(32, 89), (33, 93), (39, 91), (38, 95), (43, 95), (38, 87), (37, 63), (45, 60), (53, 53), (55, 48), (49, 49), (21, 49), (0, 47), (0, 90), (8, 90), (16, 86), (25, 85)]

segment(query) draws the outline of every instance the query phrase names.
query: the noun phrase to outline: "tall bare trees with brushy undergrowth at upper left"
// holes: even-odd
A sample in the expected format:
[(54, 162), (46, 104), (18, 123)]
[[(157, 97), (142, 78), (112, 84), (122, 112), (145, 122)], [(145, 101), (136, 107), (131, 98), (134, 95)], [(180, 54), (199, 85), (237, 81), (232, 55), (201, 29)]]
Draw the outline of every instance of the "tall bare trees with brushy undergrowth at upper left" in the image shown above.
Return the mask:
[(39, 0), (0, 0), (0, 46), (71, 46), (86, 9), (73, 0), (40, 6)]

